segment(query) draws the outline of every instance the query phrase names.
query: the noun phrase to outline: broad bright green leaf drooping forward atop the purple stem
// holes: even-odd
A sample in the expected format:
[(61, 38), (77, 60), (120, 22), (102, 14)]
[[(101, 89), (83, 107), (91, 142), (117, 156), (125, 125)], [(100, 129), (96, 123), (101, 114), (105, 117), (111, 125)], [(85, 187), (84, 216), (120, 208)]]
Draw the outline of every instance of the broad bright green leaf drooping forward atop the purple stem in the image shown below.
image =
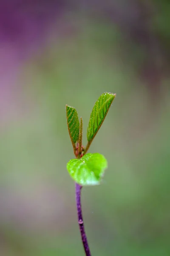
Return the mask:
[(80, 159), (71, 159), (67, 164), (71, 177), (82, 186), (98, 185), (107, 167), (107, 160), (99, 153), (85, 154)]

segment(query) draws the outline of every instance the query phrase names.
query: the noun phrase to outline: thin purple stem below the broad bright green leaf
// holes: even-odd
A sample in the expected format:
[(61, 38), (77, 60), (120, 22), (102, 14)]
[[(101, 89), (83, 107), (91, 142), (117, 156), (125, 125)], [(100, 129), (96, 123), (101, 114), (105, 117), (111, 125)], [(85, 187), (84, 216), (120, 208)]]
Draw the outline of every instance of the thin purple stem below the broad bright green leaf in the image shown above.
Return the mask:
[(85, 234), (85, 228), (82, 218), (82, 206), (81, 206), (81, 189), (82, 186), (75, 183), (75, 189), (76, 189), (76, 203), (77, 203), (77, 215), (78, 215), (78, 223), (79, 223), (79, 229), (82, 236), (82, 243), (85, 249), (85, 255), (91, 256), (90, 248), (88, 246), (88, 239)]

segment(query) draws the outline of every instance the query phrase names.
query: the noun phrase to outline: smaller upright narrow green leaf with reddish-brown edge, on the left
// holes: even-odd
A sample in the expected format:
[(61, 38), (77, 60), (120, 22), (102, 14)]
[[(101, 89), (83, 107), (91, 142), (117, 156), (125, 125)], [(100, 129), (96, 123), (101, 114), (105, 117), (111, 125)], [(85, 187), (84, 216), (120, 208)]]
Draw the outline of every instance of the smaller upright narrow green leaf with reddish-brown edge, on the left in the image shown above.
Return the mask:
[(68, 132), (75, 150), (75, 143), (79, 139), (79, 117), (75, 108), (66, 105)]

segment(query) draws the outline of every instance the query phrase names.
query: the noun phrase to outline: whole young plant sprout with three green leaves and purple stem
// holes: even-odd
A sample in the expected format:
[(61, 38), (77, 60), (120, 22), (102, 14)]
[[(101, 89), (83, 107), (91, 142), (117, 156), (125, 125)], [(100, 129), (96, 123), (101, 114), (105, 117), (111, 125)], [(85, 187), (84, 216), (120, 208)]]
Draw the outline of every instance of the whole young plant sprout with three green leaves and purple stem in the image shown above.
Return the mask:
[(105, 169), (108, 167), (107, 160), (102, 154), (86, 153), (105, 120), (115, 96), (116, 94), (113, 93), (103, 93), (94, 104), (88, 124), (86, 147), (82, 145), (82, 117), (79, 122), (76, 109), (66, 105), (68, 132), (76, 156), (76, 159), (71, 159), (68, 162), (67, 170), (75, 181), (78, 223), (86, 256), (91, 256), (91, 252), (82, 218), (81, 189), (83, 186), (99, 185)]

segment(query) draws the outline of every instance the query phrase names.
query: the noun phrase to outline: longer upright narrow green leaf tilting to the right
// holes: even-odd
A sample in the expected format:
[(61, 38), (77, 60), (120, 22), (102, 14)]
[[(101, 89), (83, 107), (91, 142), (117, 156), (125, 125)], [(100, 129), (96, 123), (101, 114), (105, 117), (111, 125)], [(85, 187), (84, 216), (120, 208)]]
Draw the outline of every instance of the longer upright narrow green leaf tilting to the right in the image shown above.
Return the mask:
[(94, 104), (88, 124), (88, 142), (91, 142), (99, 131), (115, 96), (113, 93), (103, 93)]

